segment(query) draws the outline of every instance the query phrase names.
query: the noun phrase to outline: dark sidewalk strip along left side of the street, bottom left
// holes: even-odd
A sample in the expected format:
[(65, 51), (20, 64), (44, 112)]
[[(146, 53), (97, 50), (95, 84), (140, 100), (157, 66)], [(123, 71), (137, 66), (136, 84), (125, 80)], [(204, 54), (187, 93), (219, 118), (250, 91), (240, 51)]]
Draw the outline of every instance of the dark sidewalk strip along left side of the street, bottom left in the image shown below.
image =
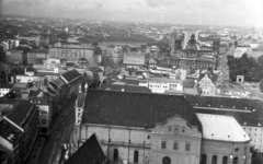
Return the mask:
[(32, 152), (31, 152), (28, 159), (26, 160), (25, 164), (36, 164), (37, 163), (45, 142), (46, 142), (45, 138), (42, 138), (42, 137), (36, 138), (36, 141), (34, 143)]

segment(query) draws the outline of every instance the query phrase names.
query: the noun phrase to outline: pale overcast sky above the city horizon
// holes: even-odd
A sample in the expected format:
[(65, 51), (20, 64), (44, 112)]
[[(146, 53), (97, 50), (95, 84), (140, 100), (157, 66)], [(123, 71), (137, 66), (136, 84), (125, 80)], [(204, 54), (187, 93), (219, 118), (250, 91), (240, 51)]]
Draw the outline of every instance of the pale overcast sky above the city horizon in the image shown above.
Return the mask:
[(263, 27), (263, 0), (0, 0), (3, 14)]

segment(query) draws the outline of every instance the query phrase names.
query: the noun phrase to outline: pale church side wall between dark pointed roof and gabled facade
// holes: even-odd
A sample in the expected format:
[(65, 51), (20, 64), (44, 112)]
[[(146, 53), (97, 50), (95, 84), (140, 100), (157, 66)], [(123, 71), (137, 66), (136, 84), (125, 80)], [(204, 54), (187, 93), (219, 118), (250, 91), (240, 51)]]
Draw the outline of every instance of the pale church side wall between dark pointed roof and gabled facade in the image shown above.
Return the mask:
[[(118, 162), (134, 163), (134, 152), (139, 152), (139, 164), (148, 161), (150, 138), (145, 129), (110, 127), (100, 125), (82, 125), (80, 139), (84, 142), (91, 134), (96, 133), (102, 149), (110, 161), (113, 161), (114, 149), (118, 150)], [(108, 147), (108, 140), (110, 147)], [(130, 142), (129, 142), (130, 141)], [(144, 148), (145, 145), (145, 148)]]

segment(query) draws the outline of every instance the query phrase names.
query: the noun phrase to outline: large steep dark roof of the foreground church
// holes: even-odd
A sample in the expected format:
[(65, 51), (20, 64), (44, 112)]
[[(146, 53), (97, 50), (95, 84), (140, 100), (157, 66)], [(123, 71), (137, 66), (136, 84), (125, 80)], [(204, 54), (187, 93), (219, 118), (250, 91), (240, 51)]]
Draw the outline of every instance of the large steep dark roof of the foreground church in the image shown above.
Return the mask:
[(89, 90), (83, 122), (152, 128), (174, 115), (202, 131), (201, 122), (184, 96)]

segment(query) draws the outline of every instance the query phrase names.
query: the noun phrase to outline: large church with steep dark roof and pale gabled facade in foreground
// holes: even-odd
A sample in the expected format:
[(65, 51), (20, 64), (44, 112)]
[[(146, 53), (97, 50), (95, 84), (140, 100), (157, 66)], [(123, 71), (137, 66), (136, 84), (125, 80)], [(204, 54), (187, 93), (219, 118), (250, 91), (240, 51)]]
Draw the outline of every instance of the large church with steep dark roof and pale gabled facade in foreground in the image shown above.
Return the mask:
[(239, 132), (230, 141), (220, 140), (220, 131), (207, 137), (213, 130), (184, 96), (90, 90), (79, 141), (96, 133), (110, 163), (250, 164), (250, 138), (239, 124), (232, 129)]

